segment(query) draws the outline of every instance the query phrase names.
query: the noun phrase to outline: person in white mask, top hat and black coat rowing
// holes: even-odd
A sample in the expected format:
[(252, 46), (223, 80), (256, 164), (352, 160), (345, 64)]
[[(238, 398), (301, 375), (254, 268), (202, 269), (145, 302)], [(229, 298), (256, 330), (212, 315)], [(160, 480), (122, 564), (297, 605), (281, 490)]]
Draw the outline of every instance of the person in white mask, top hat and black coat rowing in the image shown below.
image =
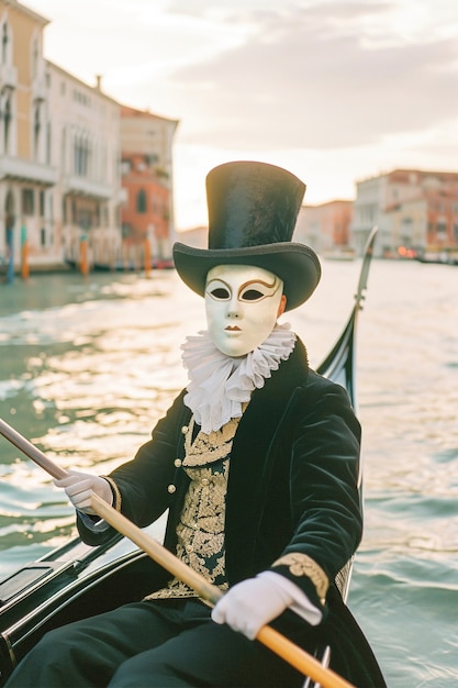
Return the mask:
[(309, 651), (328, 644), (356, 685), (384, 686), (334, 584), (361, 537), (360, 426), (346, 391), (278, 323), (321, 276), (314, 252), (291, 242), (304, 190), (262, 163), (209, 174), (209, 248), (174, 246), (206, 310), (208, 331), (182, 346), (189, 384), (133, 460), (56, 480), (90, 544), (110, 534), (91, 490), (142, 528), (168, 509), (165, 546), (225, 595), (211, 610), (163, 572), (145, 599), (45, 635), (8, 686), (302, 686), (253, 640), (267, 623)]

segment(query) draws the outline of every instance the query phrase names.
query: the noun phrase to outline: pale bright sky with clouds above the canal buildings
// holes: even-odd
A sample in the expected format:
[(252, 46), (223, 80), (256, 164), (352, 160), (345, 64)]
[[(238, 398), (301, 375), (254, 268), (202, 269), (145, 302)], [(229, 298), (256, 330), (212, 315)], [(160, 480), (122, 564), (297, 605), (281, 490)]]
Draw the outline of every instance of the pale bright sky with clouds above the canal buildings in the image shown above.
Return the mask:
[(45, 57), (123, 104), (179, 120), (178, 230), (206, 224), (205, 176), (286, 167), (304, 202), (395, 168), (458, 171), (456, 0), (22, 0)]

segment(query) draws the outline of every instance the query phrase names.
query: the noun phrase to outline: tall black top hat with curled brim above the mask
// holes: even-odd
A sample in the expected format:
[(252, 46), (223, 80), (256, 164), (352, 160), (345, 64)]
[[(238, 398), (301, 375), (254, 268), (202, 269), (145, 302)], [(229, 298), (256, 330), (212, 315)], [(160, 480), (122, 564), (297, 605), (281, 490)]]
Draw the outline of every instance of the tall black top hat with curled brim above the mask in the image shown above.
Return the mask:
[(266, 163), (220, 165), (206, 177), (209, 248), (174, 244), (181, 279), (204, 295), (209, 270), (216, 265), (254, 265), (283, 280), (286, 310), (313, 293), (321, 277), (312, 248), (291, 242), (305, 185), (291, 173)]

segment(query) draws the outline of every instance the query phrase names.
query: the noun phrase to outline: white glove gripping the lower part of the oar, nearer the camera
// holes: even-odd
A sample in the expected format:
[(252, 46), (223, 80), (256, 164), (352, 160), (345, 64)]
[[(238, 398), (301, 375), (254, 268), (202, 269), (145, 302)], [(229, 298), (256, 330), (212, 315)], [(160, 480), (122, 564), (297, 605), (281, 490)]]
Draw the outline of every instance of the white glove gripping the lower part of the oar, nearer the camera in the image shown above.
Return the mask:
[(260, 574), (227, 590), (212, 611), (213, 621), (227, 623), (233, 631), (253, 641), (266, 623), (277, 619), (293, 602), (272, 578)]

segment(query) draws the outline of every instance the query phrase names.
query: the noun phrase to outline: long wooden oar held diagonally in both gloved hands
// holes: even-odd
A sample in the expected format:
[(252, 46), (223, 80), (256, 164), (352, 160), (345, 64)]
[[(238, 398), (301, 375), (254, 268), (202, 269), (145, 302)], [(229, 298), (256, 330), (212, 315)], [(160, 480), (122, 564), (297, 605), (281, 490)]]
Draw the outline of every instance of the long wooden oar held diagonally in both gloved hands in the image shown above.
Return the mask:
[[(53, 478), (60, 479), (68, 475), (64, 468), (60, 468), (60, 466), (51, 460), (43, 452), (2, 419), (0, 419), (0, 434), (38, 466), (44, 468)], [(177, 578), (180, 578), (203, 599), (215, 604), (222, 597), (223, 593), (219, 588), (205, 580), (203, 576), (177, 558), (171, 552), (166, 550), (166, 547), (93, 492), (91, 495), (91, 508), (94, 513), (107, 521), (107, 523), (122, 535), (125, 535), (125, 537), (129, 537), (129, 540), (132, 540), (132, 542), (148, 554), (152, 559), (160, 564), (160, 566)], [(351, 684), (342, 678), (342, 676), (332, 669), (323, 667), (314, 657), (301, 647), (298, 647), (298, 645), (294, 645), (294, 643), (284, 637), (284, 635), (281, 635), (281, 633), (278, 633), (278, 631), (271, 626), (262, 626), (256, 640), (266, 645), (266, 647), (269, 647), (269, 650), (275, 652), (304, 676), (310, 676), (312, 680), (319, 683), (323, 688), (354, 688)]]

